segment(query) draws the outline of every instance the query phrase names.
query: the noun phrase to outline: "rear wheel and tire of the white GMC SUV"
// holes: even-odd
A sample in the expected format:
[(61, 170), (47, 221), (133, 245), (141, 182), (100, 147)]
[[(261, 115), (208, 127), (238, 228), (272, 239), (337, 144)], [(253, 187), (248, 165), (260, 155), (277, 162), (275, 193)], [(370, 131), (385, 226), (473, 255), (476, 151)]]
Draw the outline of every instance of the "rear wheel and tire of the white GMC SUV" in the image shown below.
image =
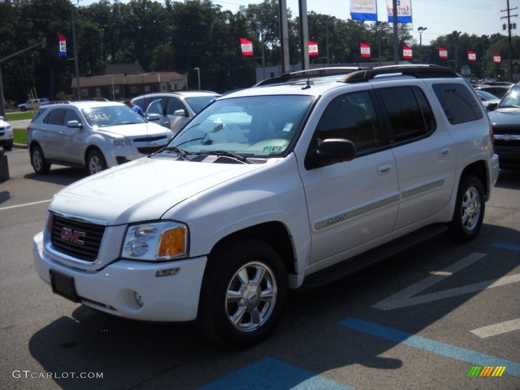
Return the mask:
[(455, 241), (473, 240), (482, 227), (486, 203), (484, 187), (475, 175), (460, 179), (453, 219), (448, 225), (448, 236)]

